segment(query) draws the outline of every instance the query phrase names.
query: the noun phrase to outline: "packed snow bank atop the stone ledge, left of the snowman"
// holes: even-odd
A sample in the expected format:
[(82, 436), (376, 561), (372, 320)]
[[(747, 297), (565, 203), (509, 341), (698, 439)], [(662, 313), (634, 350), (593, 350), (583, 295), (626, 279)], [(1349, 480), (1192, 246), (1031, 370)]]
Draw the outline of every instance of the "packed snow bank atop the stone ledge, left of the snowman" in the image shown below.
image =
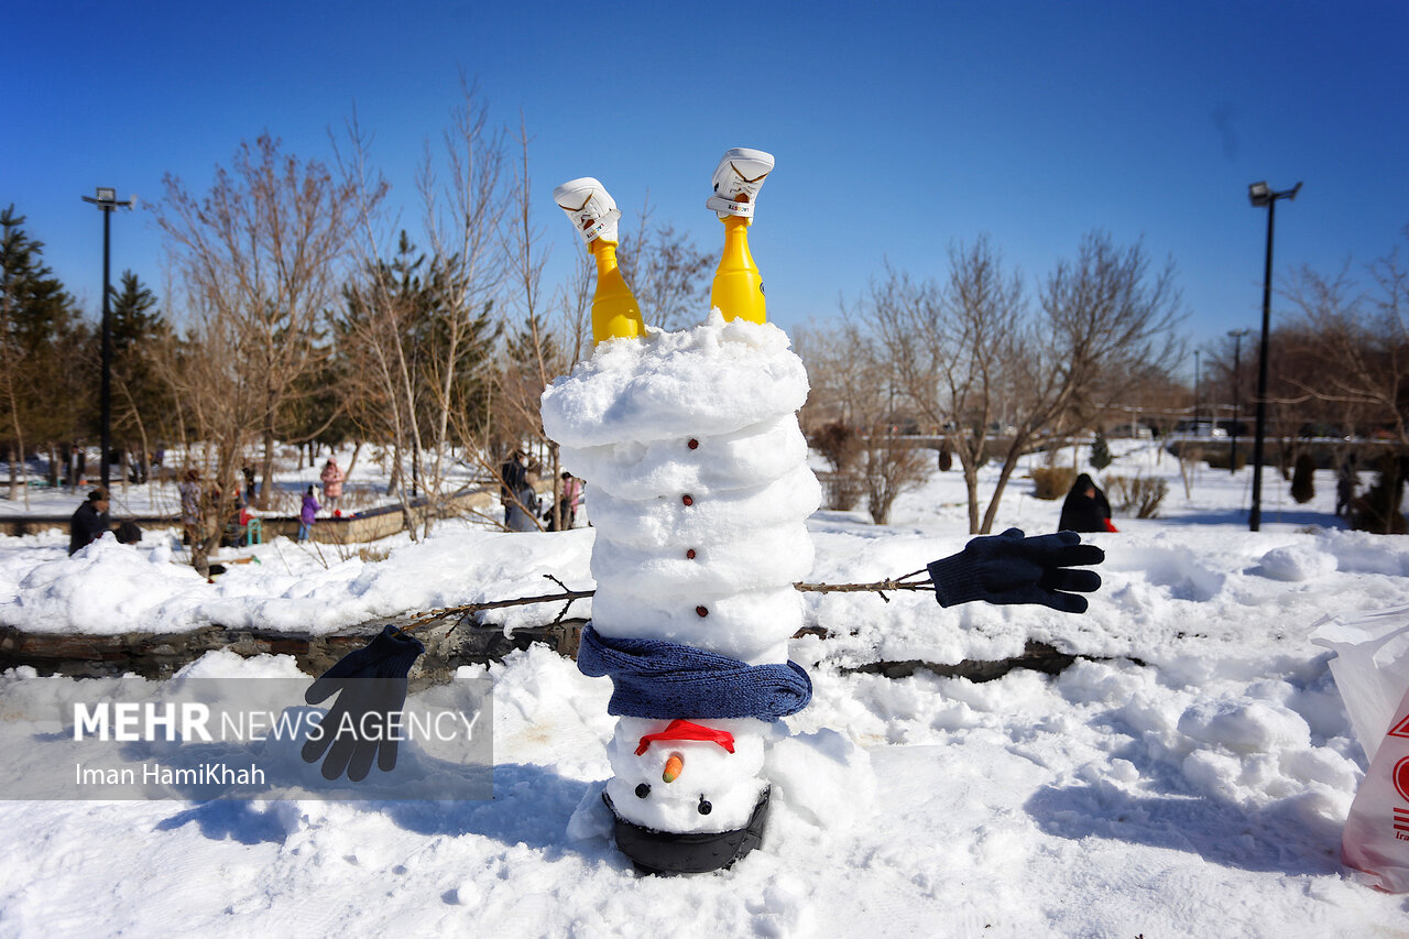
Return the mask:
[[(145, 550), (104, 537), (68, 557), (59, 548), (0, 554), (0, 625), (30, 633), (179, 633), (230, 629), (333, 633), (368, 620), (478, 601), (533, 596), (545, 575), (589, 587), (590, 529), (519, 536), (442, 524), (382, 561), (340, 558), (287, 539), (259, 546), (214, 584), (166, 544)], [(180, 560), (187, 558), (185, 551)], [(586, 612), (590, 601), (573, 612)], [(497, 610), (506, 626), (537, 623), (531, 606)]]

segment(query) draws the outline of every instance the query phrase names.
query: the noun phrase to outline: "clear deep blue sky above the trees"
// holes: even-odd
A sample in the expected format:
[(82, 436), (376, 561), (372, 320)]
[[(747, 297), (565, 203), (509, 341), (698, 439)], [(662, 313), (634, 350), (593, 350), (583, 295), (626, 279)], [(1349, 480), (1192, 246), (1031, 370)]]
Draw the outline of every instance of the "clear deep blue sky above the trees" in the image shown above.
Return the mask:
[[(203, 192), (265, 130), (328, 159), (355, 107), (414, 207), (461, 70), (495, 124), (526, 121), (554, 272), (582, 250), (557, 183), (597, 176), (627, 219), (650, 195), (713, 251), (719, 155), (774, 152), (751, 243), (789, 329), (834, 317), (886, 259), (943, 275), (945, 248), (979, 233), (1036, 296), (1102, 228), (1172, 257), (1210, 345), (1258, 326), (1260, 179), (1305, 182), (1278, 206), (1279, 276), (1409, 251), (1402, 1), (62, 3), (4, 27), (0, 204), (92, 312), (94, 186), (149, 200), (170, 172)], [(114, 279), (124, 268), (161, 282), (145, 213), (114, 217)]]

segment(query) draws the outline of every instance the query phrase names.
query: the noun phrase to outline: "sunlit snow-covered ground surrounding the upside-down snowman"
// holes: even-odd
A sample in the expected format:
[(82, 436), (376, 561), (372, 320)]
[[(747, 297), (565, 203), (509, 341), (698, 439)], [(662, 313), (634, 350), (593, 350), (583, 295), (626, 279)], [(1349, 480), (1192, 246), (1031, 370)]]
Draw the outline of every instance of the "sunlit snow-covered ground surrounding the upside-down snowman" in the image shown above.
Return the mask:
[[(1339, 864), (1365, 759), (1309, 642), (1326, 615), (1409, 603), (1409, 540), (1343, 530), (1329, 472), (1295, 505), (1268, 471), (1253, 534), (1250, 471), (1203, 467), (1185, 498), (1171, 457), (1130, 447), (1099, 475), (1160, 475), (1169, 495), (1162, 517), (1089, 536), (1107, 560), (1085, 616), (807, 595), (827, 637), (795, 640), (792, 657), (814, 698), (774, 746), (764, 847), (728, 871), (633, 873), (597, 798), (609, 682), (533, 649), (489, 668), (493, 801), (0, 802), (0, 933), (1409, 935), (1405, 898)], [(1055, 529), (1060, 505), (1030, 492), (1014, 479), (995, 530)], [(819, 513), (810, 579), (917, 570), (964, 546), (965, 519), (958, 472), (902, 498), (886, 527)], [(73, 558), (59, 534), (0, 539), (0, 622), (328, 632), (542, 592), (550, 572), (589, 587), (590, 540), (447, 524), (423, 544), (379, 543), (393, 550), (375, 563), (278, 540), (207, 584), (170, 563), (170, 532)], [(1082, 658), (986, 684), (850, 670), (1003, 658), (1029, 639)], [(292, 667), (223, 653), (192, 670)], [(76, 684), (6, 673), (6, 750), (42, 753), (25, 722)], [(25, 760), (0, 768), (0, 791)]]

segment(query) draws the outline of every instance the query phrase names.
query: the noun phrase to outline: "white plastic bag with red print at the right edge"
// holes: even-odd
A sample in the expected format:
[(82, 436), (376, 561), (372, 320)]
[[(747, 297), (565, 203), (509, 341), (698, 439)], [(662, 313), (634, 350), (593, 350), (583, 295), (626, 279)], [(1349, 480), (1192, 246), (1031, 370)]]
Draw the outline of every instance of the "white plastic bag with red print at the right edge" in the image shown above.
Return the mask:
[(1336, 688), (1370, 759), (1340, 840), (1355, 880), (1409, 891), (1409, 606), (1319, 622)]

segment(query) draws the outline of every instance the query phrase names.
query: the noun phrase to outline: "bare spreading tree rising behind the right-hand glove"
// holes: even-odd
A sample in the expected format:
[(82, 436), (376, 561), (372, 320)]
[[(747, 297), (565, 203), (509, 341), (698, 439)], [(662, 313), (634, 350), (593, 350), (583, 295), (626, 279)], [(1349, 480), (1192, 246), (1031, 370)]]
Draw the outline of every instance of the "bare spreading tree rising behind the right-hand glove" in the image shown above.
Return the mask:
[[(1047, 278), (1041, 313), (986, 237), (950, 250), (944, 286), (886, 269), (855, 310), (892, 388), (960, 457), (969, 532), (992, 530), (1019, 460), (1043, 431), (1081, 423), (1178, 360), (1172, 264), (1151, 274), (1141, 245), (1086, 235)], [(978, 470), (996, 451), (983, 508)]]

